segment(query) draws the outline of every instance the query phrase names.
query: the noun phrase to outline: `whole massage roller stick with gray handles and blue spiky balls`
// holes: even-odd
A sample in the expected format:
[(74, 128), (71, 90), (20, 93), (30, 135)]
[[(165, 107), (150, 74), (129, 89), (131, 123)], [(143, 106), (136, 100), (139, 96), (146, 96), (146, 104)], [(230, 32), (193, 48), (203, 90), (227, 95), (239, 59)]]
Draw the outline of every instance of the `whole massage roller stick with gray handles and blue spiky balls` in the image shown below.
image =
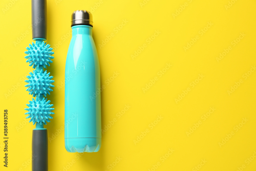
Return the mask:
[(47, 3), (46, 0), (32, 0), (32, 39), (35, 41), (29, 44), (27, 51), (25, 51), (26, 62), (29, 66), (32, 66), (35, 70), (30, 72), (27, 76), (28, 80), (25, 80), (27, 85), (28, 94), (35, 98), (32, 101), (29, 100), (27, 104), (28, 108), (25, 108), (28, 112), (26, 118), (30, 118), (29, 122), (33, 125), (36, 124), (36, 128), (32, 132), (32, 171), (47, 171), (48, 170), (48, 136), (47, 129), (44, 125), (50, 122), (52, 119), (52, 104), (50, 100), (47, 100), (46, 95), (52, 91), (51, 80), (53, 76), (50, 73), (44, 71), (44, 68), (50, 66), (52, 63), (51, 56), (54, 54), (49, 44), (44, 42), (47, 35)]

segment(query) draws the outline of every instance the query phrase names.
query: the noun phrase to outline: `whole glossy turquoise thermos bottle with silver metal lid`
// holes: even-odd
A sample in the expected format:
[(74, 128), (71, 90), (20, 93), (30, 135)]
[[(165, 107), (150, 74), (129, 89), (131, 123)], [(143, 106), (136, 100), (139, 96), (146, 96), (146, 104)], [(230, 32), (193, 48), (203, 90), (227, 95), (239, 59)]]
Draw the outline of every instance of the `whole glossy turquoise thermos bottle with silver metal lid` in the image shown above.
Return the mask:
[(100, 66), (92, 38), (92, 14), (72, 13), (65, 68), (65, 148), (98, 152), (101, 147)]

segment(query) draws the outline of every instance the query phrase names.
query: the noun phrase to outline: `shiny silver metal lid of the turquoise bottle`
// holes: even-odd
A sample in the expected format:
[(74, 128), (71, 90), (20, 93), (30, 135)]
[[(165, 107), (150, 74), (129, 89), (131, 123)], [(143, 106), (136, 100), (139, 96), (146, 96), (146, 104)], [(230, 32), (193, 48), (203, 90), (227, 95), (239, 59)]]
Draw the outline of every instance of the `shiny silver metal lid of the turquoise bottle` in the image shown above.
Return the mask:
[(92, 27), (92, 13), (87, 10), (77, 10), (71, 15), (71, 27), (75, 25), (88, 25)]

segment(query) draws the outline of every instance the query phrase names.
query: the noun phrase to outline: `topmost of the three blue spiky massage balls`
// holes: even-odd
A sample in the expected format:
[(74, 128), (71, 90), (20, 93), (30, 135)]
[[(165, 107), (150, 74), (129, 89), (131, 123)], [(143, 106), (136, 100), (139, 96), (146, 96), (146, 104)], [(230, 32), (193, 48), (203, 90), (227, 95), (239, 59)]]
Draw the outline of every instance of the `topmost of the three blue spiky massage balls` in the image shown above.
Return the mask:
[(46, 68), (46, 66), (50, 66), (50, 63), (52, 63), (51, 59), (54, 57), (51, 56), (54, 54), (52, 52), (52, 48), (49, 44), (46, 45), (46, 42), (42, 42), (42, 44), (39, 44), (36, 41), (36, 44), (32, 42), (32, 45), (29, 44), (29, 47), (26, 48), (28, 51), (25, 51), (25, 58), (27, 59), (26, 62), (29, 63), (29, 66), (32, 66), (34, 69), (39, 66), (43, 66)]

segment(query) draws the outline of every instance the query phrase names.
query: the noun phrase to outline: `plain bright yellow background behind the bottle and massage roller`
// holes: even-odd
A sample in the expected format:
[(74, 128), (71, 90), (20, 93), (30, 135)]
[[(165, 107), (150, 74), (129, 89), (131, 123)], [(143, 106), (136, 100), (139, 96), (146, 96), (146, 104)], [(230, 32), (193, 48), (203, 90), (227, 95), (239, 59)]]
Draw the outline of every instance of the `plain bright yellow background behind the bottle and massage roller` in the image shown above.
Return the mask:
[[(243, 170), (255, 170), (256, 159), (251, 156), (256, 151), (256, 72), (247, 79), (243, 75), (256, 64), (256, 2), (232, 2), (231, 6), (229, 0), (144, 0), (144, 4), (143, 0), (48, 0), (47, 43), (55, 52), (54, 62), (47, 67), (55, 80), (54, 91), (47, 96), (55, 108), (54, 119), (46, 126), (48, 137), (53, 138), (49, 140), (49, 171), (66, 168), (70, 171), (153, 171), (157, 162), (160, 165), (155, 170), (183, 171), (200, 167), (200, 171), (235, 171), (242, 165)], [(32, 42), (31, 4), (30, 1), (1, 0), (0, 7), (1, 111), (8, 109), (9, 116), (9, 163), (8, 168), (3, 167), (3, 143), (0, 143), (0, 170), (31, 170), (31, 136), (35, 126), (27, 123), (24, 115), (24, 108), (32, 98), (24, 87), (25, 76), (32, 70), (24, 58), (25, 48)], [(70, 20), (71, 13), (77, 9), (87, 9), (93, 14), (93, 38), (99, 55), (101, 85), (105, 85), (101, 94), (102, 128), (116, 119), (102, 135), (100, 151), (80, 156), (65, 150), (64, 130), (61, 130)], [(181, 12), (174, 17), (176, 10)], [(114, 29), (123, 20), (128, 22), (116, 32)], [(200, 30), (208, 22), (213, 25), (201, 35)], [(154, 37), (155, 31), (161, 33), (149, 42), (148, 37)], [(112, 33), (114, 36), (100, 48), (99, 44)], [(231, 43), (240, 33), (245, 36), (233, 46)], [(199, 39), (185, 52), (184, 46), (196, 36)], [(18, 39), (22, 40), (16, 44)], [(143, 44), (146, 47), (139, 51)], [(217, 61), (219, 54), (229, 46), (232, 49)], [(132, 59), (135, 51), (140, 53)], [(166, 63), (172, 66), (160, 77), (157, 73)], [(107, 84), (106, 80), (111, 79), (114, 72), (119, 75)], [(193, 84), (199, 74), (204, 77), (192, 87), (190, 83)], [(143, 92), (155, 77), (157, 81)], [(240, 86), (235, 86), (234, 92), (229, 94), (228, 90), (240, 79)], [(175, 99), (187, 88), (190, 91), (176, 103)], [(13, 92), (6, 96), (9, 90)], [(122, 112), (125, 105), (130, 108), (118, 118), (116, 114)], [(216, 110), (203, 120), (201, 116), (206, 115), (210, 107)], [(155, 126), (149, 125), (158, 116), (163, 118)], [(240, 129), (234, 128), (243, 118), (248, 121)], [(196, 123), (200, 121), (198, 126)], [(194, 124), (198, 126), (196, 129)], [(3, 115), (0, 125), (0, 137), (3, 137)], [(187, 136), (190, 128), (195, 130)], [(141, 132), (146, 129), (148, 132), (143, 137)], [(234, 135), (227, 138), (231, 131)], [(142, 139), (135, 145), (137, 136)], [(220, 145), (225, 137), (227, 142)], [(169, 149), (174, 150), (170, 155)], [(168, 156), (164, 162), (163, 155)], [(248, 164), (250, 157), (254, 159)], [(207, 162), (204, 164), (201, 160)], [(71, 167), (70, 162), (73, 162)]]

